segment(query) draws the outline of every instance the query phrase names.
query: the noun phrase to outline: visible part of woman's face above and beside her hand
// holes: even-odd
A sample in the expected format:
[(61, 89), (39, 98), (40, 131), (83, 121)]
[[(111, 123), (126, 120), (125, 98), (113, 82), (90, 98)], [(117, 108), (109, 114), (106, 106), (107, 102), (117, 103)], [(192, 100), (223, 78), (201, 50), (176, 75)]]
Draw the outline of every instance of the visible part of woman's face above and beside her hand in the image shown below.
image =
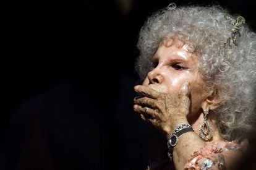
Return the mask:
[(190, 82), (190, 113), (198, 113), (208, 96), (207, 86), (198, 71), (198, 63), (199, 57), (189, 53), (185, 43), (164, 40), (153, 56), (154, 69), (148, 72), (143, 85), (177, 96), (181, 85)]

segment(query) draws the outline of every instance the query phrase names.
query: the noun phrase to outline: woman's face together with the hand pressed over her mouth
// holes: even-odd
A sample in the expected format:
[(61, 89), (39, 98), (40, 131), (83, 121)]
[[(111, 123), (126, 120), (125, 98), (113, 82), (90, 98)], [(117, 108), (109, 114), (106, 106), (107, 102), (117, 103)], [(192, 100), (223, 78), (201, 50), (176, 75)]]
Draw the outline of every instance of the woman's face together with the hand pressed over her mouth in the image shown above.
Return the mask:
[(134, 87), (143, 96), (134, 99), (134, 110), (165, 135), (181, 123), (197, 121), (211, 93), (198, 63), (199, 57), (190, 53), (184, 42), (163, 41), (153, 56), (154, 69), (148, 72), (143, 85)]

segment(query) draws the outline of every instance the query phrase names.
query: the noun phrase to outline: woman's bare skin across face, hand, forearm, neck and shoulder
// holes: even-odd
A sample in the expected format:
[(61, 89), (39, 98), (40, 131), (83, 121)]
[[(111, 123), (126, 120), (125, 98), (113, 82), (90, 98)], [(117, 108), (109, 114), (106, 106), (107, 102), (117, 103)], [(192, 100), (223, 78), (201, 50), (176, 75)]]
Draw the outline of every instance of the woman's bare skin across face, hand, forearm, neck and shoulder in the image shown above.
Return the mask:
[[(204, 141), (198, 135), (200, 124), (203, 122), (203, 110), (217, 108), (220, 103), (218, 95), (221, 94), (213, 93), (214, 91), (207, 87), (198, 69), (200, 56), (189, 51), (186, 43), (182, 41), (164, 40), (153, 56), (153, 69), (148, 72), (143, 85), (134, 87), (140, 96), (134, 99), (134, 111), (160, 129), (166, 138), (169, 138), (179, 124), (192, 125), (194, 132), (182, 134), (173, 148), (175, 169), (184, 169), (187, 163), (194, 167), (194, 161), (189, 161), (194, 153), (205, 146), (211, 148), (216, 142), (224, 142), (214, 112), (207, 116), (207, 121), (213, 129), (211, 140)], [(236, 169), (244, 157), (240, 149), (221, 150), (221, 155), (212, 161), (217, 165), (221, 163), (221, 167), (226, 169)], [(202, 159), (210, 158), (205, 156)], [(189, 168), (192, 166), (189, 164)], [(195, 169), (201, 168), (196, 165)]]

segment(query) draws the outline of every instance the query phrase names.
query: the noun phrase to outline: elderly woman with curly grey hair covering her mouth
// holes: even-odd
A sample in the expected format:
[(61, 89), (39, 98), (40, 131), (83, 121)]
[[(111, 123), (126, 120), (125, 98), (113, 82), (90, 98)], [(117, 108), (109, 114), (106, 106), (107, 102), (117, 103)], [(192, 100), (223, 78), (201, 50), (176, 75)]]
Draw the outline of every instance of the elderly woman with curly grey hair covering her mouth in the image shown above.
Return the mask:
[(220, 6), (156, 12), (142, 27), (134, 110), (176, 169), (235, 169), (255, 127), (256, 35)]

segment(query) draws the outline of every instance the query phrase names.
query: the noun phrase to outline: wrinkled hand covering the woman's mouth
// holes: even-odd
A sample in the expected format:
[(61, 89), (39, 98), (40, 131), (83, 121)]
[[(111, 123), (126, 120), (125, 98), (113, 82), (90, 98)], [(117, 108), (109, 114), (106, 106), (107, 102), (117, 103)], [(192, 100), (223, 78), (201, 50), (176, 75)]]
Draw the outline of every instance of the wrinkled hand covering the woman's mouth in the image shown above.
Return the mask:
[[(178, 96), (161, 93), (143, 86), (135, 87), (135, 91), (144, 96), (135, 98), (134, 102), (137, 104), (135, 110), (141, 113), (142, 119), (151, 122), (163, 133), (167, 132), (166, 135), (169, 134), (170, 129), (174, 129), (170, 120), (187, 122), (184, 116), (189, 114), (190, 108), (188, 82), (184, 83)], [(173, 113), (176, 113), (175, 116)]]

